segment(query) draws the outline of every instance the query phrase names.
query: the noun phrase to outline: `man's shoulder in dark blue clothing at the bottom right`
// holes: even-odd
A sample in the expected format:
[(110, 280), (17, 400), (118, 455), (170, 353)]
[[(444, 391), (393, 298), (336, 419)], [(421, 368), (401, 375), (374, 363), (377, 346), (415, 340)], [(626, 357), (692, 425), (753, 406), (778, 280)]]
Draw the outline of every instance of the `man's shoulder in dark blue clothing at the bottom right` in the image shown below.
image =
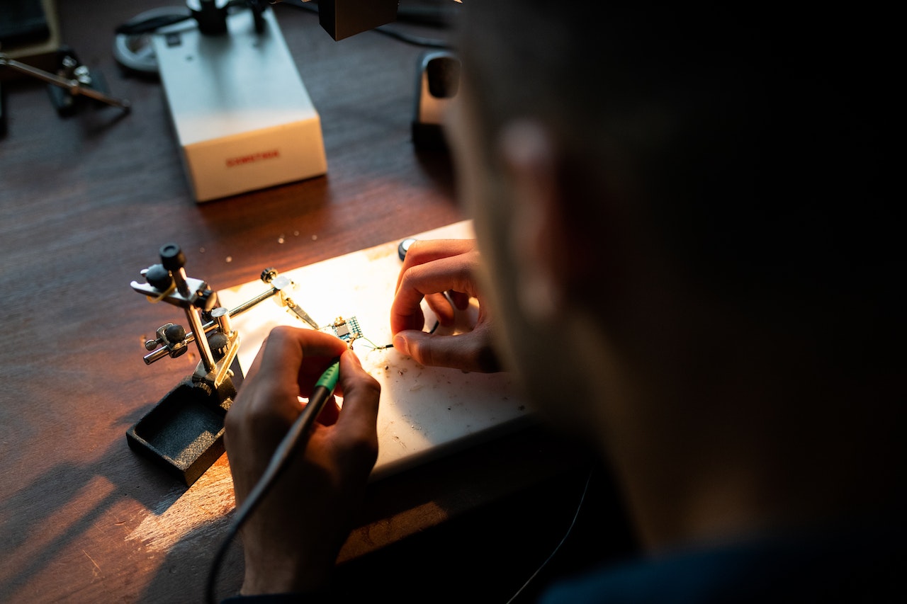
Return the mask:
[(556, 602), (876, 602), (901, 590), (904, 526), (834, 527), (674, 550), (552, 585)]

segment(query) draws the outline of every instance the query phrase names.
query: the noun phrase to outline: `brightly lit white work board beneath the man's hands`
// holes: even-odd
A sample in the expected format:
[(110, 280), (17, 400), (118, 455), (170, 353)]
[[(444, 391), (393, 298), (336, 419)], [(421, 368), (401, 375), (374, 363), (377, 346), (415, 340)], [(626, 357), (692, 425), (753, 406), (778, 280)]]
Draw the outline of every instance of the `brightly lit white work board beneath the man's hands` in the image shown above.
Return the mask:
[[(413, 235), (416, 239), (472, 239), (470, 221)], [(363, 338), (353, 344), (363, 367), (381, 384), (378, 412), (378, 460), (372, 478), (383, 477), (422, 463), (441, 453), (462, 449), (504, 434), (522, 425), (527, 405), (508, 373), (479, 374), (458, 369), (427, 367), (394, 348), (373, 349), (391, 343), (390, 307), (397, 276), (403, 266), (397, 254), (399, 240), (331, 258), (307, 267), (280, 271), (292, 279), (288, 290), (319, 326), (336, 318), (356, 318)], [(260, 279), (219, 290), (227, 308), (267, 291)], [(434, 314), (423, 301), (427, 331)], [(473, 314), (476, 311), (473, 300)], [(272, 297), (233, 317), (239, 331), (239, 365), (249, 365), (270, 329), (278, 325), (307, 327), (301, 319)], [(367, 340), (366, 340), (367, 338)]]

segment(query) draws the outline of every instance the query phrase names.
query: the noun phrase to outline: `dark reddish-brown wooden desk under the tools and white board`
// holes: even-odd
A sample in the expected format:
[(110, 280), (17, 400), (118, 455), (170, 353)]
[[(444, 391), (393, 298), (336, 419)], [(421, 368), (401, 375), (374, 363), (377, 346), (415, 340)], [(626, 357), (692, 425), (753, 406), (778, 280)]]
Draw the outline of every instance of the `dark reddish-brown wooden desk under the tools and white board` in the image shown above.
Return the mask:
[[(180, 317), (130, 281), (170, 241), (186, 251), (190, 276), (217, 289), (463, 215), (446, 158), (410, 141), (421, 48), (372, 32), (335, 42), (314, 15), (278, 7), (321, 114), (327, 177), (197, 204), (160, 84), (122, 74), (112, 56), (114, 27), (160, 4), (59, 4), (63, 44), (132, 112), (62, 119), (44, 84), (6, 86), (0, 601), (200, 601), (233, 509), (229, 466), (222, 456), (186, 489), (128, 448), (127, 428), (195, 362), (144, 365), (143, 341)], [(588, 472), (574, 453), (527, 430), (373, 484), (341, 584), (438, 601), (495, 580), (484, 593), (506, 599), (570, 524)], [(234, 545), (222, 595), (241, 582)]]

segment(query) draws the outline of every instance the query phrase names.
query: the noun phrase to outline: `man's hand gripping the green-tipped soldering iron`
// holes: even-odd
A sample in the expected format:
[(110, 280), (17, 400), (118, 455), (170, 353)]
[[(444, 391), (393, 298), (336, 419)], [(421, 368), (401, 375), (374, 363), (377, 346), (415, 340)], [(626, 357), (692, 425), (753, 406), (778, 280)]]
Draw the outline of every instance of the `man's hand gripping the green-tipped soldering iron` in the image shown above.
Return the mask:
[(224, 444), (239, 506), (302, 412), (299, 396), (311, 395), (318, 375), (337, 356), (342, 408), (333, 398), (327, 402), (306, 447), (242, 528), (243, 594), (314, 593), (327, 587), (377, 459), (381, 386), (340, 338), (278, 326), (227, 412)]

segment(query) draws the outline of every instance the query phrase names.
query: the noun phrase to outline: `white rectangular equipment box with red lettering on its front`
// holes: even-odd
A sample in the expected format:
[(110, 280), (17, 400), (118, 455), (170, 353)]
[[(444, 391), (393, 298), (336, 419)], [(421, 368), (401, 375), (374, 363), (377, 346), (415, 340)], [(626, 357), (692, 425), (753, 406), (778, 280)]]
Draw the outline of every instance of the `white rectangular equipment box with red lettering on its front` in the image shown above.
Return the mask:
[(327, 172), (321, 120), (272, 10), (259, 34), (251, 11), (228, 33), (194, 20), (151, 36), (161, 83), (197, 201)]

